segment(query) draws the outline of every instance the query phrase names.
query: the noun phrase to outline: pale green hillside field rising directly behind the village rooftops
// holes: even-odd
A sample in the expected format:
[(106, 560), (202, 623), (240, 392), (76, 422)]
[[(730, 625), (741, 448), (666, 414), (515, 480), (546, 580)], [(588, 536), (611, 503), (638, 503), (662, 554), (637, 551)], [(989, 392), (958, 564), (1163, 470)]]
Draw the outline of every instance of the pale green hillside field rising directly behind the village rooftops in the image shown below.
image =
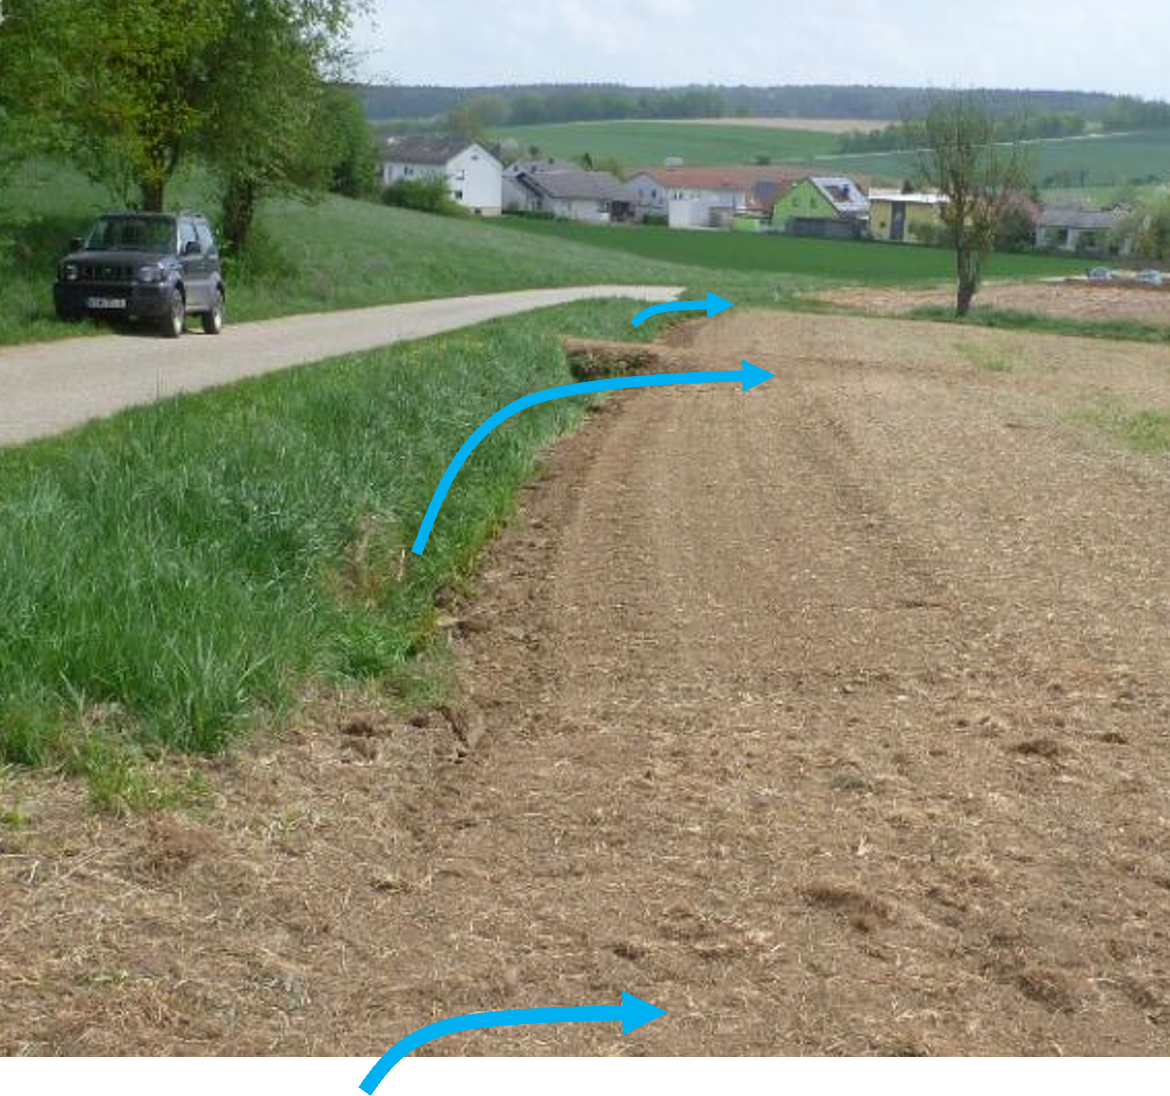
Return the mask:
[(535, 145), (548, 156), (563, 158), (587, 152), (594, 160), (615, 159), (624, 167), (661, 166), (668, 157), (682, 157), (689, 166), (752, 164), (757, 157), (769, 157), (773, 164), (793, 163), (838, 147), (832, 133), (684, 122), (519, 125), (494, 130), (491, 136), (496, 140), (510, 138), (522, 150)]

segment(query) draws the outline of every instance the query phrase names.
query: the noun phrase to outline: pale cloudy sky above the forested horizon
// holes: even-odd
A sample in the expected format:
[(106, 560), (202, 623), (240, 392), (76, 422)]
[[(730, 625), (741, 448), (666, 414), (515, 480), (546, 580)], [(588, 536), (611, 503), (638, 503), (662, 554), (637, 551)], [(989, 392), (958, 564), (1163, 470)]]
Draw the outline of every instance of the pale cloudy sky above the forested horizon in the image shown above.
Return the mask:
[[(374, 0), (363, 76), (1055, 88), (1170, 98), (1164, 0)], [(970, 14), (968, 14), (970, 13)]]

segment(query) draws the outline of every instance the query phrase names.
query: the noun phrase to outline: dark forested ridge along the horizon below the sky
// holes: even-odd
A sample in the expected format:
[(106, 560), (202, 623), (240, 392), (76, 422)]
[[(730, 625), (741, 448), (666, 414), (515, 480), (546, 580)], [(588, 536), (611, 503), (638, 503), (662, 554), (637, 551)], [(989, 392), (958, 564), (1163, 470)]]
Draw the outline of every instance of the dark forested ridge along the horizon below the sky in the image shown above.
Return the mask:
[[(373, 87), (359, 89), (371, 120), (436, 118), (470, 99), (493, 101), (514, 125), (619, 118), (744, 117), (900, 119), (922, 116), (937, 90), (879, 87), (627, 88), (618, 84), (534, 84), (497, 88)], [(1075, 112), (1106, 122), (1134, 99), (1086, 91), (994, 90), (1003, 115)]]

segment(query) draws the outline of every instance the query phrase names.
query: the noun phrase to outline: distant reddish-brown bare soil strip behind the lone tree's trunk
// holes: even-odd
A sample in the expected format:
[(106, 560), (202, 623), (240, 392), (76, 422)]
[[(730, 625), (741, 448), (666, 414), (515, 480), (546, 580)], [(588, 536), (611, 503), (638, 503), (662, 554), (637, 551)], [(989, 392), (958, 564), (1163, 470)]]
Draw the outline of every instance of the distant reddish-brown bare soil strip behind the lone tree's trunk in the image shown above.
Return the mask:
[[(937, 289), (858, 288), (812, 295), (878, 316), (903, 316), (924, 305), (955, 304), (954, 287)], [(1170, 292), (1065, 282), (990, 282), (977, 308), (1037, 312), (1061, 319), (1133, 319), (1170, 326)]]

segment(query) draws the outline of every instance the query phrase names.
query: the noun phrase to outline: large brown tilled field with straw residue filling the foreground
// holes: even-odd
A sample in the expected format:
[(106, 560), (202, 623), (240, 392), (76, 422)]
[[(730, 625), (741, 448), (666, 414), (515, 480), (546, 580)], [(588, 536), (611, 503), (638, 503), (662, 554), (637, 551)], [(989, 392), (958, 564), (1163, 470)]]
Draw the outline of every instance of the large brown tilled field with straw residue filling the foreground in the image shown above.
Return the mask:
[(1170, 407), (1170, 351), (673, 340), (777, 378), (550, 455), (440, 599), (450, 708), (316, 697), (195, 814), (4, 778), (0, 1053), (372, 1055), (622, 991), (667, 1016), (424, 1053), (1165, 1053), (1170, 461), (1078, 414)]

